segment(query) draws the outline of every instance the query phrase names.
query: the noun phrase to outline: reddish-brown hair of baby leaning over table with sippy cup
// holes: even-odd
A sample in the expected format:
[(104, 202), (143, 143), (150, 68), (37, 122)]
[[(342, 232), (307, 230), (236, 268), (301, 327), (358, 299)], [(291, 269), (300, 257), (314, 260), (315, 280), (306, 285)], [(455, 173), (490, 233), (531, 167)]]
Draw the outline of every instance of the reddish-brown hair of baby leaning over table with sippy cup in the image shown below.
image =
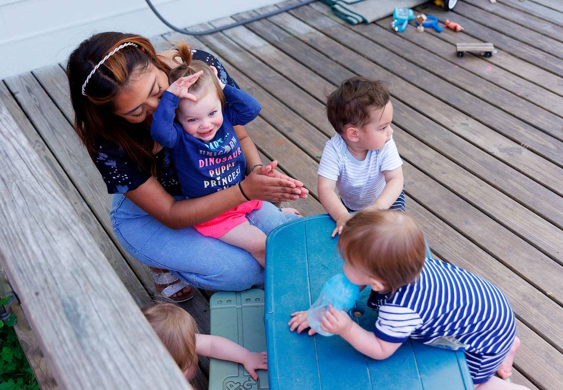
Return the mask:
[(395, 293), (417, 279), (426, 257), (421, 229), (399, 211), (360, 211), (342, 229), (338, 248), (345, 261), (381, 280)]

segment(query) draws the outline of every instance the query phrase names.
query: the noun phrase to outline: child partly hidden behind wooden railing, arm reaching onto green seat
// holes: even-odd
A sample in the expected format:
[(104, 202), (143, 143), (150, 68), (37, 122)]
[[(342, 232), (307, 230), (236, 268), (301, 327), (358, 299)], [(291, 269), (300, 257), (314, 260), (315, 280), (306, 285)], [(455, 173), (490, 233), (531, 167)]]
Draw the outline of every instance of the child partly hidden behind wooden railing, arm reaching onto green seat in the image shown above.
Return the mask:
[(258, 379), (257, 369), (268, 368), (265, 351), (250, 352), (224, 337), (198, 334), (193, 317), (174, 303), (158, 302), (142, 312), (187, 380), (195, 376), (198, 355), (241, 363), (254, 380)]

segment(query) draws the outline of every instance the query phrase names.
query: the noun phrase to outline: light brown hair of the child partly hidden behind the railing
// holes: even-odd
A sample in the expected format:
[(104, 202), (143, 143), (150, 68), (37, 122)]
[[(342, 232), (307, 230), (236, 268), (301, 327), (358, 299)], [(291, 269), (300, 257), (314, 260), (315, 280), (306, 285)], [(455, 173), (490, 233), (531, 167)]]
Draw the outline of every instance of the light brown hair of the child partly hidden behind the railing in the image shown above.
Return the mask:
[(166, 302), (145, 306), (141, 310), (182, 372), (198, 363), (195, 353), (198, 325), (187, 311)]

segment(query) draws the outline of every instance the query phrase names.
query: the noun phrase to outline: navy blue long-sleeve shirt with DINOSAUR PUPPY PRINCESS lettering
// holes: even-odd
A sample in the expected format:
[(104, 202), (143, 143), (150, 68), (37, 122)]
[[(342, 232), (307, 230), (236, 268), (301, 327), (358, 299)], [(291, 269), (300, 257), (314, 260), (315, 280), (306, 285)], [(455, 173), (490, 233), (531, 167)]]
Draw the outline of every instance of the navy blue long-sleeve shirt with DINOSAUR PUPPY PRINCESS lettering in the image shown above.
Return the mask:
[(244, 179), (246, 159), (234, 125), (245, 125), (260, 113), (260, 103), (243, 90), (225, 85), (223, 124), (208, 142), (188, 134), (175, 121), (180, 98), (165, 91), (153, 114), (150, 134), (172, 149), (182, 193), (198, 198), (228, 188)]

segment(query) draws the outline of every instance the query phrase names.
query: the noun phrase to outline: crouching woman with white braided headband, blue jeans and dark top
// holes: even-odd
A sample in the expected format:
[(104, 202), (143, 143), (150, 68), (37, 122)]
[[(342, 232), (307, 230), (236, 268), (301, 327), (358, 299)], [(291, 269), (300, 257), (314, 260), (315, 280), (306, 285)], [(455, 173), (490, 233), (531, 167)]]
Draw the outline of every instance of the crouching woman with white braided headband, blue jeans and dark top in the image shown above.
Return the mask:
[[(163, 296), (182, 301), (191, 297), (189, 285), (240, 291), (263, 283), (263, 269), (250, 253), (204, 237), (191, 226), (247, 197), (279, 202), (305, 198), (308, 191), (278, 173), (276, 161), (262, 166), (252, 145), (244, 151), (248, 176), (240, 188), (194, 199), (181, 196), (169, 150), (149, 133), (152, 114), (168, 88), (167, 74), (175, 65), (173, 53), (157, 54), (148, 39), (134, 34), (96, 34), (70, 55), (67, 75), (75, 130), (114, 194), (115, 235), (133, 257), (151, 267)], [(217, 58), (199, 50), (193, 57), (215, 66), (224, 83), (238, 88)], [(248, 215), (266, 234), (296, 217), (267, 202)]]

